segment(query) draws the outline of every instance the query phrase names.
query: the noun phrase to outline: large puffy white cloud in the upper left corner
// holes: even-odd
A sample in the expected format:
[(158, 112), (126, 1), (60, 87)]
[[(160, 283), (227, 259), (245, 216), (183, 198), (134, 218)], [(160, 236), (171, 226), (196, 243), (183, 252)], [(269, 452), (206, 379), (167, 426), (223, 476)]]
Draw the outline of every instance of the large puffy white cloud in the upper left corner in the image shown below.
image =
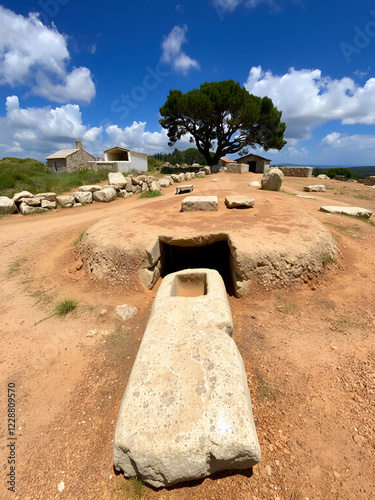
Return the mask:
[(51, 101), (91, 102), (95, 85), (87, 68), (67, 70), (66, 38), (37, 14), (26, 18), (0, 6), (0, 84), (27, 85)]

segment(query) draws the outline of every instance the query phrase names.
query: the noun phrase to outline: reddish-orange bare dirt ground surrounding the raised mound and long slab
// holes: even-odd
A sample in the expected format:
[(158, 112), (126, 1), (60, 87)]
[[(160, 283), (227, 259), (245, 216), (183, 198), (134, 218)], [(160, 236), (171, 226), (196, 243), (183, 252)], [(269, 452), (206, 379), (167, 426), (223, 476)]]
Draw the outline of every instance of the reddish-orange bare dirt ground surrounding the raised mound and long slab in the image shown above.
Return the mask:
[[(170, 187), (161, 199), (134, 196), (0, 220), (1, 498), (375, 498), (375, 225), (319, 211), (347, 205), (375, 213), (375, 189), (322, 181), (327, 191), (310, 200), (294, 195), (315, 179), (285, 178), (273, 193), (247, 186), (260, 181), (257, 174), (215, 177), (219, 182), (196, 179), (194, 194), (247, 192), (268, 197), (275, 211), (288, 203), (321, 221), (339, 246), (317, 280), (229, 297), (260, 464), (160, 490), (113, 470), (117, 413), (157, 286), (128, 290), (90, 279), (75, 242), (111, 215), (123, 214), (124, 224), (140, 210), (157, 217), (158, 204), (165, 210), (168, 200), (176, 203)], [(54, 307), (64, 299), (78, 307), (58, 317)], [(122, 304), (139, 312), (123, 321), (115, 313)], [(8, 384), (16, 394), (12, 437)], [(13, 459), (16, 493), (7, 489)]]

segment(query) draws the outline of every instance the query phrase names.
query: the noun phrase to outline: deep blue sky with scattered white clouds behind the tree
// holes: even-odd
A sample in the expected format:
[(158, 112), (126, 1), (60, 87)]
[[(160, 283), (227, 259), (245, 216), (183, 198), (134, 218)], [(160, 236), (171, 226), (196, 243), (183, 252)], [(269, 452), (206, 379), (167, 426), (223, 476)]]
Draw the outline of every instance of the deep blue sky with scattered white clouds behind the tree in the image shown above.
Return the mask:
[(0, 158), (43, 160), (76, 139), (95, 156), (167, 152), (169, 90), (233, 79), (287, 123), (281, 151), (256, 153), (375, 165), (374, 54), (368, 0), (4, 1)]

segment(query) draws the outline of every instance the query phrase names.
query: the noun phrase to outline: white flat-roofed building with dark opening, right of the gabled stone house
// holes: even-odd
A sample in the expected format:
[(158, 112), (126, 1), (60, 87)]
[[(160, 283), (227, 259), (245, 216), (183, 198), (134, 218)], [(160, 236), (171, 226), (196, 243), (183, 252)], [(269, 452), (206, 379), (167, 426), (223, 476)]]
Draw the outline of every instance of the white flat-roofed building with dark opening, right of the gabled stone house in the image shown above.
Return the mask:
[(108, 168), (114, 172), (147, 172), (147, 155), (120, 147), (110, 148), (104, 151), (104, 161), (96, 161), (96, 168)]

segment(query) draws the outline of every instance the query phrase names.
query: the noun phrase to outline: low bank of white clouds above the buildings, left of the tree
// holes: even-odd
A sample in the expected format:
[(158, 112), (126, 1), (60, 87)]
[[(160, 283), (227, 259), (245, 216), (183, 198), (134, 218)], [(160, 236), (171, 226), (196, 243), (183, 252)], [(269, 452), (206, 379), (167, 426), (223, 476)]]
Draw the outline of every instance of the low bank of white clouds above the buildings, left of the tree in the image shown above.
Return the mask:
[[(22, 108), (16, 95), (6, 99), (6, 116), (0, 117), (0, 157), (9, 154), (44, 160), (59, 149), (74, 148), (75, 140), (94, 156), (113, 146), (133, 149), (147, 154), (168, 151), (165, 129), (148, 131), (146, 122), (133, 122), (121, 128), (118, 125), (87, 127), (77, 104), (52, 108)], [(179, 149), (191, 147), (189, 138), (177, 144)]]

